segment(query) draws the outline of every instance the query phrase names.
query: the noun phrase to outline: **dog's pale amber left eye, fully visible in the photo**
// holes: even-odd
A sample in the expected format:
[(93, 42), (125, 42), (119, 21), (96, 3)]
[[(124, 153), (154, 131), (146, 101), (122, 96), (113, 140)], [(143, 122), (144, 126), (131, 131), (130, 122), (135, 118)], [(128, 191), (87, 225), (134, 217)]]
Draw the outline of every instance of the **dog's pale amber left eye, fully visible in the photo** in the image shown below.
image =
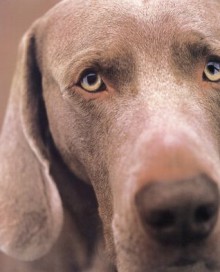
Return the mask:
[(79, 85), (90, 93), (100, 92), (106, 88), (101, 76), (94, 70), (86, 70), (80, 78)]

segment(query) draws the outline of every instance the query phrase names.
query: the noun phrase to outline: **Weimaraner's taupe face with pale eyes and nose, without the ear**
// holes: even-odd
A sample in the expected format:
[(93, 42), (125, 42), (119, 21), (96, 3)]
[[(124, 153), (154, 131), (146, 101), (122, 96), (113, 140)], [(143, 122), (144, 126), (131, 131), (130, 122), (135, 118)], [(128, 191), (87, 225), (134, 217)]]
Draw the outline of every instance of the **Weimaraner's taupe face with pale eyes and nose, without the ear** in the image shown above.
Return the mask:
[(64, 1), (34, 27), (51, 135), (118, 272), (220, 270), (219, 12)]

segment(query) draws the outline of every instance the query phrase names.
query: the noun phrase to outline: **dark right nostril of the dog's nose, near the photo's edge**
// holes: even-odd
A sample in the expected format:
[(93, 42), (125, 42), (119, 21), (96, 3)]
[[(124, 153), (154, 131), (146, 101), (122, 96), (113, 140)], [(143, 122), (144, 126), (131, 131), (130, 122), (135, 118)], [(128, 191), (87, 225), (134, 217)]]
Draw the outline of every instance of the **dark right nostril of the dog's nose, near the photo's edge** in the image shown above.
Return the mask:
[(207, 204), (199, 206), (195, 211), (195, 223), (203, 224), (210, 222), (217, 211), (216, 205)]

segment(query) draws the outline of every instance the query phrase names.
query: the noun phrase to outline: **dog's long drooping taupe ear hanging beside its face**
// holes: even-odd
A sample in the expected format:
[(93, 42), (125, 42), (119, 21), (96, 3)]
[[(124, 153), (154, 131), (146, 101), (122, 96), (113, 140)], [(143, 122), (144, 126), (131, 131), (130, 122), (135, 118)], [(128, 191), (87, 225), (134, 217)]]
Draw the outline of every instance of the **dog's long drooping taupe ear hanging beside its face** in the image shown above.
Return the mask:
[(0, 249), (20, 260), (45, 255), (63, 222), (50, 176), (47, 120), (35, 37), (22, 40), (0, 138)]

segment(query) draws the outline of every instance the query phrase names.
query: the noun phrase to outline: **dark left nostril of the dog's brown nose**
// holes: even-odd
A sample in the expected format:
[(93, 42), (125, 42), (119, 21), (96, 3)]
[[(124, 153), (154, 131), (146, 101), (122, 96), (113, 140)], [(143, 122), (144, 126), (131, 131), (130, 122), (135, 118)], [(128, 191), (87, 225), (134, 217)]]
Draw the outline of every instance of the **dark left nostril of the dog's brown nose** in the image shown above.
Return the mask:
[(154, 229), (169, 229), (175, 225), (176, 217), (172, 211), (159, 210), (151, 212), (146, 217), (146, 223)]

